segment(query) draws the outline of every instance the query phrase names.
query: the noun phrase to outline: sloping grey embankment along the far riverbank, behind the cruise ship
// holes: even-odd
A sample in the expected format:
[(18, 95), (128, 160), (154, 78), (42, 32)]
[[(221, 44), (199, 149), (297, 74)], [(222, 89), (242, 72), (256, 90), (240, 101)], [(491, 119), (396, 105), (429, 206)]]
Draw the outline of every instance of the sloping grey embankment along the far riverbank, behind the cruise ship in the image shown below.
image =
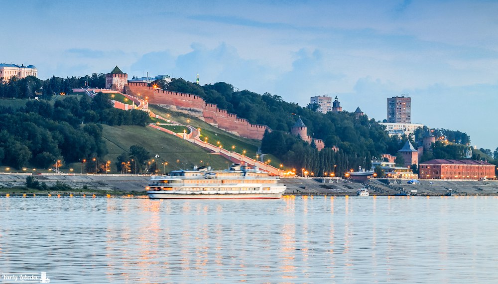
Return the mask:
[[(0, 173), (0, 188), (22, 188), (26, 186), (23, 173)], [(150, 175), (106, 175), (106, 174), (36, 174), (31, 175), (40, 183), (53, 186), (61, 182), (74, 191), (123, 191), (143, 192)], [(407, 184), (400, 179), (371, 179), (366, 183), (340, 178), (282, 178), (280, 183), (287, 185), (285, 194), (293, 195), (355, 195), (364, 186), (371, 195), (393, 195), (401, 191), (417, 195), (444, 195), (451, 189), (453, 195), (498, 196), (498, 181), (477, 180), (420, 180), (422, 184)]]

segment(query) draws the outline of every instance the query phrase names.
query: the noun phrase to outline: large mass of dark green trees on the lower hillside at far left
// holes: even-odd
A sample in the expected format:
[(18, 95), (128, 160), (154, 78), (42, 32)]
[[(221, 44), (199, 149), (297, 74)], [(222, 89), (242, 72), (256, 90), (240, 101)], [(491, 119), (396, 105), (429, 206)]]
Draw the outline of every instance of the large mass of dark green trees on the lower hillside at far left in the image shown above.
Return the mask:
[(140, 110), (113, 108), (108, 94), (66, 97), (53, 105), (28, 101), (17, 110), (0, 108), (0, 163), (21, 168), (28, 162), (48, 168), (56, 160), (77, 162), (107, 153), (102, 124), (140, 125), (149, 122)]

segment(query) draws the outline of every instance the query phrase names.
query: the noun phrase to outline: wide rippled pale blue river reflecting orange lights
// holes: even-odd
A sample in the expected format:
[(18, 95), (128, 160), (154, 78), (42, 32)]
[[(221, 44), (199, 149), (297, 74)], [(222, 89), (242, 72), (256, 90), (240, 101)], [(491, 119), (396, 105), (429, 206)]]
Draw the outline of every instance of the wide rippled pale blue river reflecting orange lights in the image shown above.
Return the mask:
[(498, 283), (498, 198), (1, 197), (0, 283), (26, 272), (75, 284)]

